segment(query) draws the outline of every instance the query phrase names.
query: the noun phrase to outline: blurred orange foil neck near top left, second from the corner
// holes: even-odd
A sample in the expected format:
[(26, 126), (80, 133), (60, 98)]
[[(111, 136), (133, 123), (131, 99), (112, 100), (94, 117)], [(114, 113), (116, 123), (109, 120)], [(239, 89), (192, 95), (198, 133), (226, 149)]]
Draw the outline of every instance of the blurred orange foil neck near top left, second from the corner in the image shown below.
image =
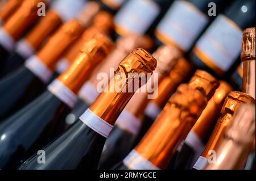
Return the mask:
[(3, 28), (9, 33), (14, 40), (18, 40), (20, 36), (31, 26), (38, 18), (38, 3), (43, 0), (24, 0), (18, 10), (3, 24)]

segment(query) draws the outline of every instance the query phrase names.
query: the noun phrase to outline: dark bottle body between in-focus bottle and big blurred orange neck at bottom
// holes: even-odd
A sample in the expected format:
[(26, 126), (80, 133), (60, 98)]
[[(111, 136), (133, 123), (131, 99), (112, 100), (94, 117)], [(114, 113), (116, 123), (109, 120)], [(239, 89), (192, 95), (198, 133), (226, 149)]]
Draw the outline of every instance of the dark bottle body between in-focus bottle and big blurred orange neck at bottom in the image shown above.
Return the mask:
[(106, 140), (100, 158), (99, 169), (108, 170), (121, 162), (133, 149), (134, 140), (135, 136), (133, 134), (115, 125)]

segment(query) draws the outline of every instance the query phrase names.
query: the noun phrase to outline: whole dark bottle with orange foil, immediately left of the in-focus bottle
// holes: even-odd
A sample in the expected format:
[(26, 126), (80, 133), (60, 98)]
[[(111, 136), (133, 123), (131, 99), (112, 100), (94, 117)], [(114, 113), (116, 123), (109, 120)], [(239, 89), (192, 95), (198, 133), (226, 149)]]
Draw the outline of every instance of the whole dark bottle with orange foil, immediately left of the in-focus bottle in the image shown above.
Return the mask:
[(71, 67), (55, 79), (47, 91), (0, 124), (0, 137), (4, 137), (0, 140), (1, 169), (19, 166), (51, 139), (55, 125), (75, 105), (76, 94), (93, 66), (112, 48), (108, 38), (94, 36), (84, 44)]

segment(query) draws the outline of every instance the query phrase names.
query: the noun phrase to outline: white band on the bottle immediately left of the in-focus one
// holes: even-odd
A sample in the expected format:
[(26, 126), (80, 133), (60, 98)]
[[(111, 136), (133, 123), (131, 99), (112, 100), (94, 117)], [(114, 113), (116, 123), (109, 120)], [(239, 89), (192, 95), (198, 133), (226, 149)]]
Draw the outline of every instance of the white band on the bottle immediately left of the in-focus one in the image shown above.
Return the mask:
[(59, 79), (55, 79), (47, 89), (69, 107), (73, 108), (75, 106), (77, 100), (76, 94), (60, 82)]

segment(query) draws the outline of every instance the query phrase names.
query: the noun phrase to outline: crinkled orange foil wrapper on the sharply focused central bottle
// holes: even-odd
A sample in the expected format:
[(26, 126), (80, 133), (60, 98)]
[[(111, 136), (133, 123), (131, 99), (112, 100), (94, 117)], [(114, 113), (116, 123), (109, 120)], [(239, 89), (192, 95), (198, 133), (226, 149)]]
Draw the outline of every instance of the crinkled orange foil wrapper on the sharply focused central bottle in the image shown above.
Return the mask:
[[(119, 114), (136, 91), (128, 92), (129, 86), (133, 86), (137, 81), (140, 82), (140, 78), (137, 77), (138, 74), (152, 74), (155, 68), (156, 60), (150, 53), (144, 49), (135, 49), (120, 62), (114, 77), (108, 83), (108, 87), (90, 106), (90, 110), (109, 124), (114, 125)], [(120, 76), (120, 73), (125, 74), (125, 76)], [(125, 82), (124, 85), (123, 82)], [(121, 86), (118, 90), (113, 87), (120, 83)], [(112, 89), (114, 91), (111, 91)]]

